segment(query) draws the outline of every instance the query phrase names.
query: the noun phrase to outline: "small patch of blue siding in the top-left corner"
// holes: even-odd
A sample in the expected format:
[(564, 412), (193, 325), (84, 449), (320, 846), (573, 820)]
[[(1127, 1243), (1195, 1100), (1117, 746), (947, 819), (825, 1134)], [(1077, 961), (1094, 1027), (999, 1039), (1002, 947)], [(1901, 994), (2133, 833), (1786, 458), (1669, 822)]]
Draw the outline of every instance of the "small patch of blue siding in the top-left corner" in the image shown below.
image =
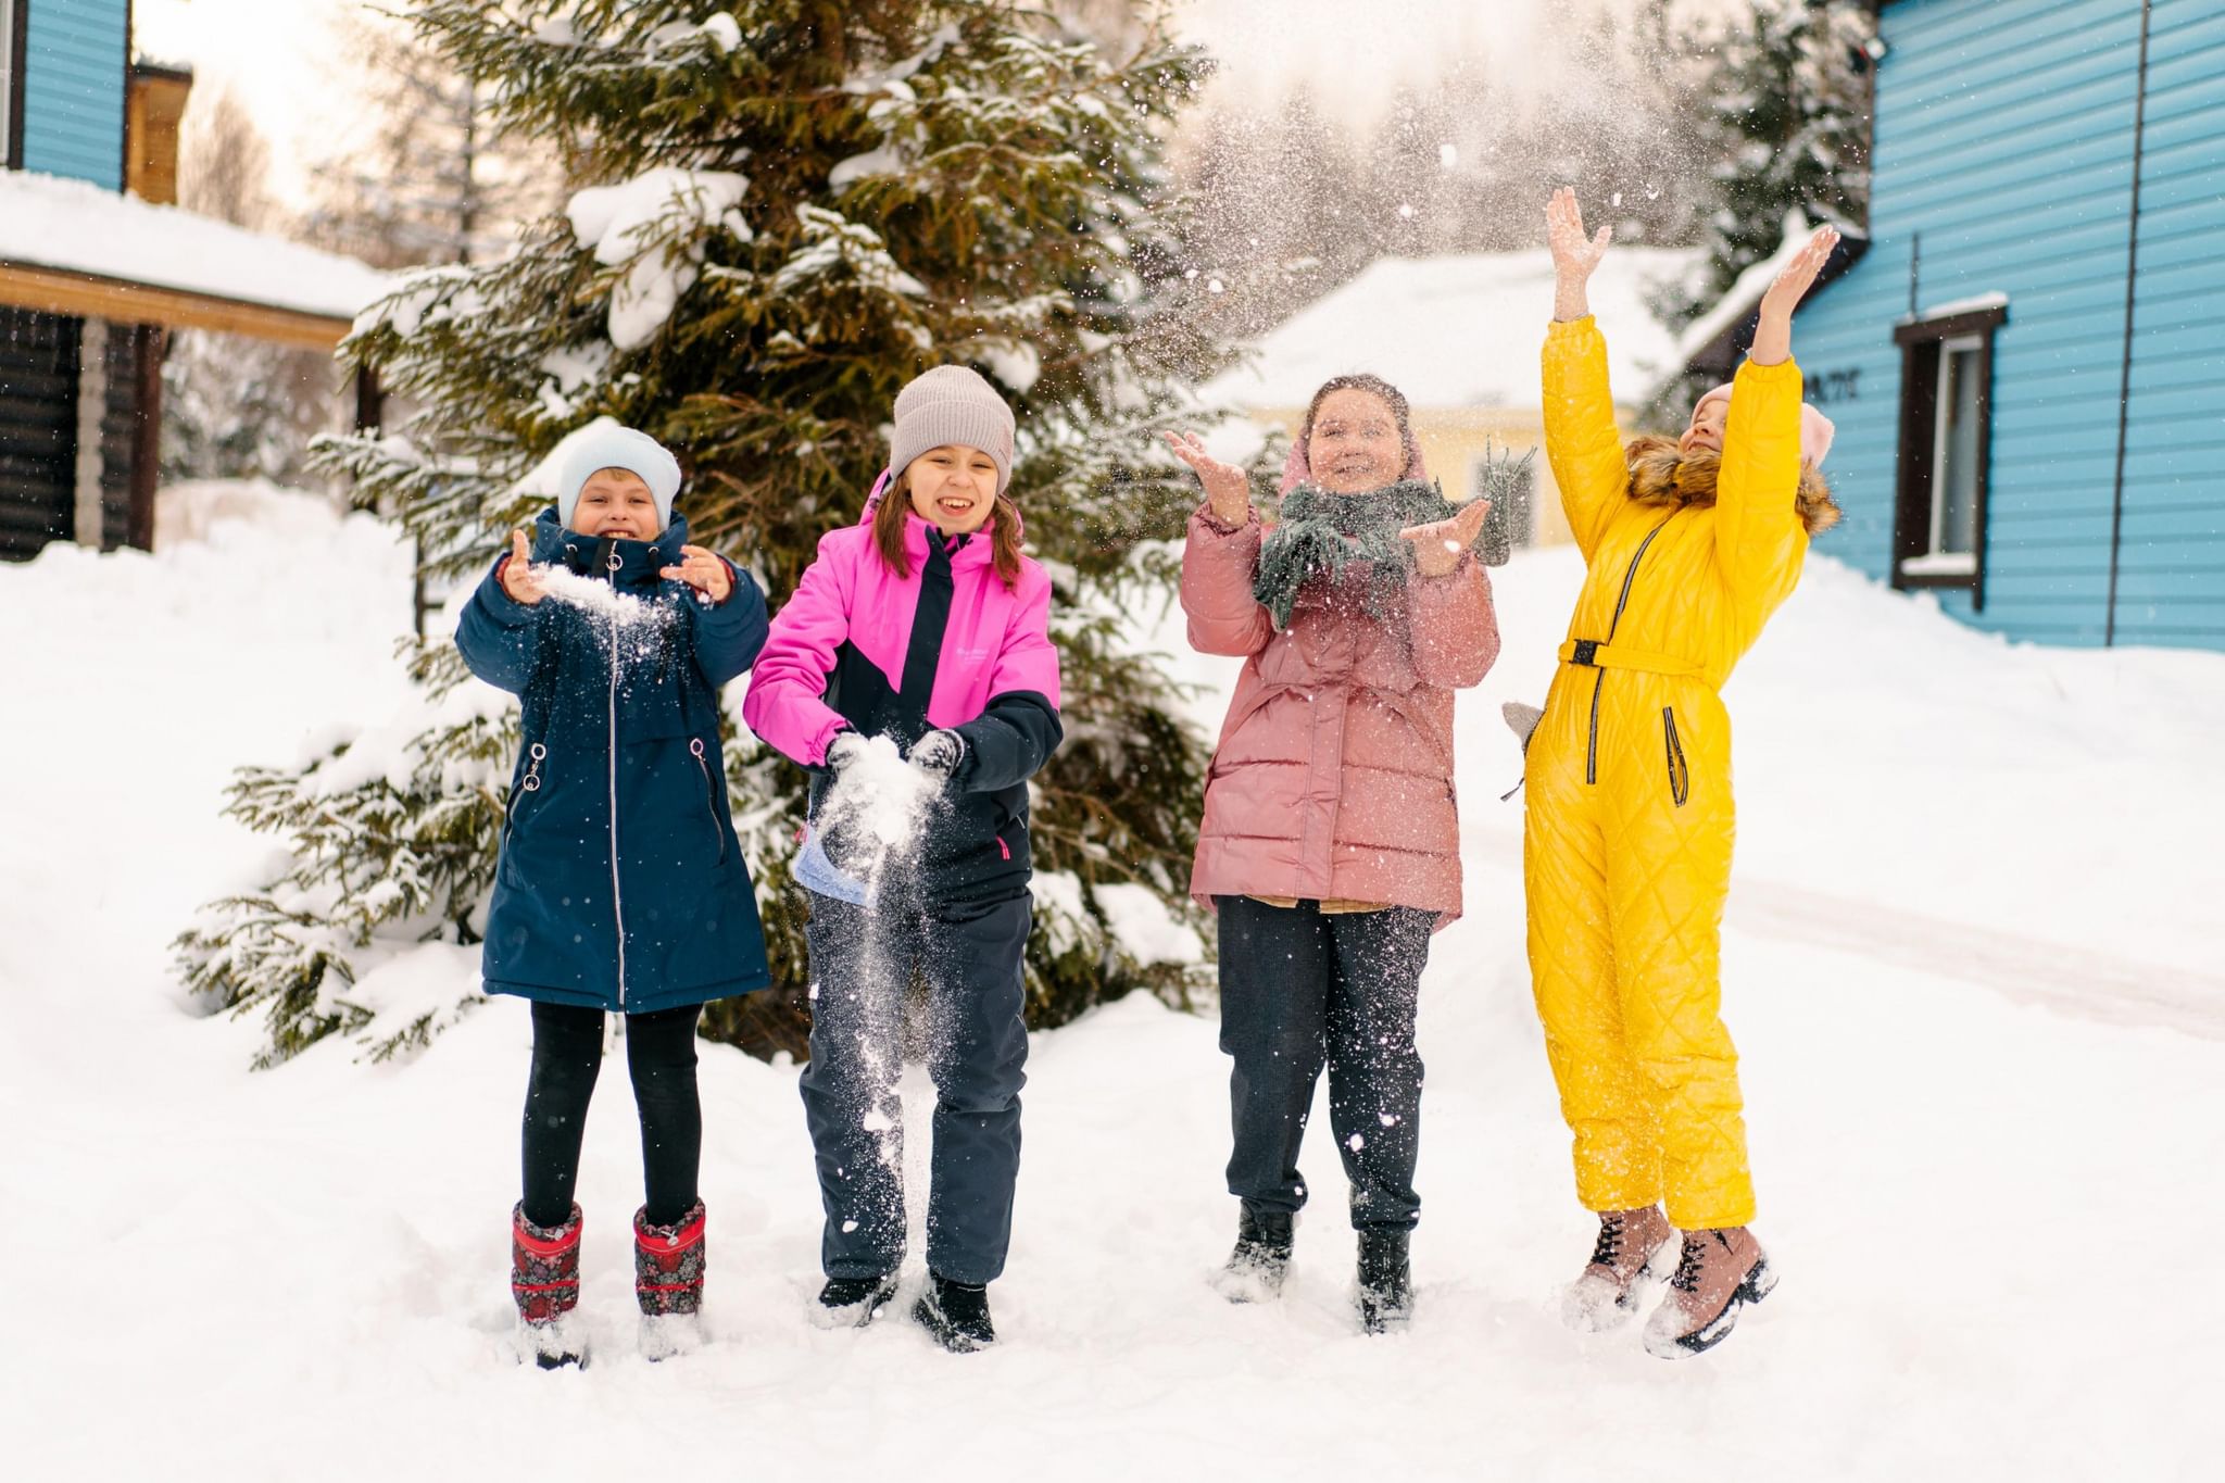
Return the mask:
[(127, 0), (31, 0), (22, 167), (125, 189)]

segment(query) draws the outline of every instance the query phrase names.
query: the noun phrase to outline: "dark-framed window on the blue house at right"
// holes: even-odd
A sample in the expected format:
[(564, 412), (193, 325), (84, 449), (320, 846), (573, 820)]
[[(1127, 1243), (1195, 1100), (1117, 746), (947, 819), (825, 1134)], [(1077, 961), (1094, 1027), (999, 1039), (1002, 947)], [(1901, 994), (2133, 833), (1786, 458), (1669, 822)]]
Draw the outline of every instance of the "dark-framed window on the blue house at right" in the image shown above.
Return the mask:
[(1987, 302), (1893, 329), (1900, 345), (1893, 587), (1958, 587), (1985, 607), (1994, 331), (2007, 320), (2007, 302)]

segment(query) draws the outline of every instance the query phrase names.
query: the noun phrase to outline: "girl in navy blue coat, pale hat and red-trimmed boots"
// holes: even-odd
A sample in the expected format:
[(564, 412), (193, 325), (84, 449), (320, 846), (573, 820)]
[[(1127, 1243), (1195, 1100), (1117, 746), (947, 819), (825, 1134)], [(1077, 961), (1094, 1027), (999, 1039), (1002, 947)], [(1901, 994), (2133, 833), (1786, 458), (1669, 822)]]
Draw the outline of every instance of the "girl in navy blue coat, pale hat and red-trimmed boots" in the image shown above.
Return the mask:
[(545, 1367), (585, 1354), (572, 1192), (603, 1014), (625, 1016), (647, 1194), (634, 1294), (643, 1352), (661, 1358), (699, 1336), (703, 1303), (696, 1018), (770, 983), (719, 749), (719, 687), (763, 647), (765, 596), (688, 545), (679, 485), (645, 434), (574, 434), (556, 507), (532, 543), (512, 534), (456, 625), (472, 674), (523, 700), (483, 976), (532, 1001), (510, 1283)]

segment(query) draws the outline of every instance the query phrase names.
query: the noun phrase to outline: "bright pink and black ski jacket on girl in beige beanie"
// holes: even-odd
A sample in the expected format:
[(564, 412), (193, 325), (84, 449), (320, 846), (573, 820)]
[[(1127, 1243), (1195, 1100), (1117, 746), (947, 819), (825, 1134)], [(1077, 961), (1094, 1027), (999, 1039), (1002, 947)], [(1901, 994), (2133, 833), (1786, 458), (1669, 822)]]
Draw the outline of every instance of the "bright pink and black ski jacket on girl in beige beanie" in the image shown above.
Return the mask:
[(892, 736), (910, 749), (952, 729), (966, 758), (950, 807), (932, 814), (921, 878), (937, 900), (995, 900), (1026, 889), (1028, 778), (1057, 749), (1059, 651), (1050, 645), (1050, 578), (1030, 558), (1006, 587), (990, 529), (943, 538), (906, 516), (910, 576), (872, 543), (874, 485), (857, 525), (819, 538), (819, 558), (772, 620), (741, 718), (825, 794), (837, 731)]

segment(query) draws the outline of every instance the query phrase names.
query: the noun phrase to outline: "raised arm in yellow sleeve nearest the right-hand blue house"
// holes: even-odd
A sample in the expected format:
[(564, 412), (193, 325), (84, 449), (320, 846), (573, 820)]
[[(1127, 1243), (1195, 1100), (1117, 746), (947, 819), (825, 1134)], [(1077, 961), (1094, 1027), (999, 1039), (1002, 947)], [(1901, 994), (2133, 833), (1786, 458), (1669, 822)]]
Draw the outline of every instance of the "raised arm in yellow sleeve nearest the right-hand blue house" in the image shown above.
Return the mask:
[(1762, 293), (1753, 351), (1738, 367), (1731, 414), (1722, 429), (1715, 478), (1715, 563), (1749, 623), (1769, 616), (1800, 580), (1807, 527), (1800, 522), (1800, 365), (1793, 354), (1793, 309), (1838, 247), (1820, 227)]

